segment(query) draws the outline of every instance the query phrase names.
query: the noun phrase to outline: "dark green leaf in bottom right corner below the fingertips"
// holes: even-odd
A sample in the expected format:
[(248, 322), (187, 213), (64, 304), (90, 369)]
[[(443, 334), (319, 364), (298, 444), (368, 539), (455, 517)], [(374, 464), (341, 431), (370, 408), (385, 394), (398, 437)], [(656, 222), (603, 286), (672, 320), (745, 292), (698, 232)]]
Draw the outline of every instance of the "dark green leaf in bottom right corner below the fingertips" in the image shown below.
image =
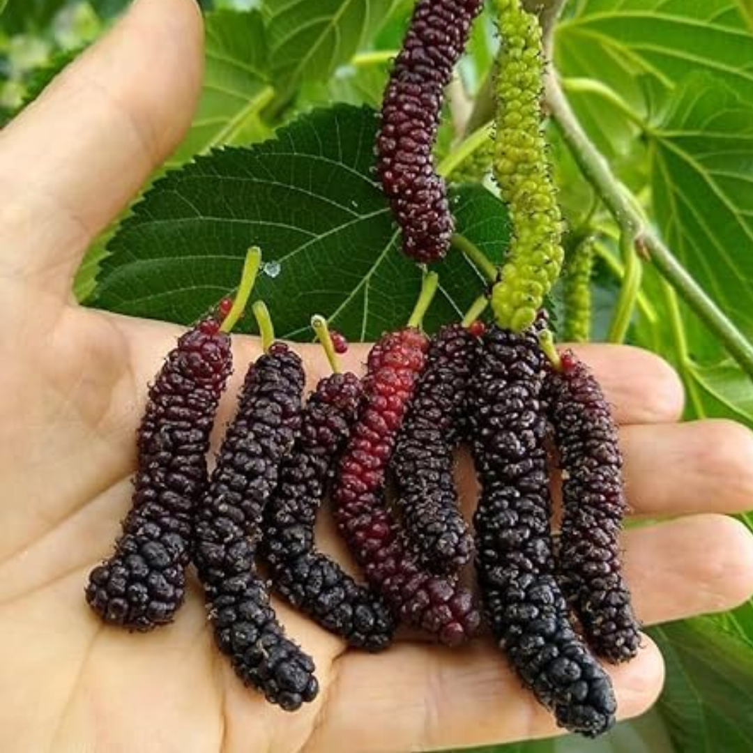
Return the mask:
[(660, 710), (682, 753), (753, 750), (753, 651), (700, 618), (649, 631), (667, 666)]

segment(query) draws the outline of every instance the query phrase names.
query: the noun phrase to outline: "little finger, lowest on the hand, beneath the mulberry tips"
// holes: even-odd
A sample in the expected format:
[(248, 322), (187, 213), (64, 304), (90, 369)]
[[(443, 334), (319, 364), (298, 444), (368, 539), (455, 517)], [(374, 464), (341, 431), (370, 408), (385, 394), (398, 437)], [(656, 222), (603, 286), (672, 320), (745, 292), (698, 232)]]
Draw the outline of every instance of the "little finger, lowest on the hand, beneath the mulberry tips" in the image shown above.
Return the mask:
[[(398, 645), (379, 656), (349, 654), (335, 667), (311, 750), (357, 739), (362, 753), (402, 753), (562, 733), (486, 642), (454, 650)], [(660, 693), (663, 662), (648, 638), (635, 660), (608, 672), (621, 718), (644, 712)]]

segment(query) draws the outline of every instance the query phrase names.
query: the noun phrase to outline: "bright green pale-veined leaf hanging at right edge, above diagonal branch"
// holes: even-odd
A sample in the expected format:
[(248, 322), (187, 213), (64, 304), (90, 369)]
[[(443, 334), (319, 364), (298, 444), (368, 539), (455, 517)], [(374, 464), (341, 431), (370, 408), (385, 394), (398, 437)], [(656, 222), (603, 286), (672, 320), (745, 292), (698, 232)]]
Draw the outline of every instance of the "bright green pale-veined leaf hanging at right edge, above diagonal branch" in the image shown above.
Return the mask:
[(653, 135), (654, 216), (687, 270), (749, 336), (751, 155), (753, 106), (717, 78), (687, 78)]

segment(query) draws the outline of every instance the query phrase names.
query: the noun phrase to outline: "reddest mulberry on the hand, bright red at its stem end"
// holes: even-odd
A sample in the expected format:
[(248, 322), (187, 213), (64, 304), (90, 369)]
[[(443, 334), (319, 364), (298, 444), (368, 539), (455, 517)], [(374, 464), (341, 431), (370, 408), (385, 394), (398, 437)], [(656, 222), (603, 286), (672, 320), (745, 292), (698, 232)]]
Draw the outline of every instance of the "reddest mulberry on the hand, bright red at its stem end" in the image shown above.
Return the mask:
[(419, 565), (384, 498), (386, 469), (427, 348), (425, 335), (407, 328), (385, 335), (371, 349), (364, 409), (340, 459), (333, 498), (349, 547), (395, 616), (456, 645), (480, 622), (471, 593), (456, 578), (432, 575)]

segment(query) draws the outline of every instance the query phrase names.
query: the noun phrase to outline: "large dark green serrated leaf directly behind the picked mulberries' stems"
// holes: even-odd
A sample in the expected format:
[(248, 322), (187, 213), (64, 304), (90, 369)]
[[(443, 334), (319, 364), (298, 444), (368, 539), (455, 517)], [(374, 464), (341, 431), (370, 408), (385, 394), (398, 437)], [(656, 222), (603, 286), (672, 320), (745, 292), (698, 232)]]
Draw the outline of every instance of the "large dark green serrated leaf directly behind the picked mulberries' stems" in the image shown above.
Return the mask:
[[(418, 267), (399, 251), (373, 177), (377, 117), (367, 108), (318, 110), (249, 149), (226, 148), (160, 180), (111, 241), (97, 303), (191, 322), (233, 288), (246, 248), (261, 245), (257, 292), (285, 337), (309, 338), (313, 312), (352, 340), (406, 322)], [(505, 210), (488, 191), (453, 195), (458, 230), (500, 261)], [(459, 317), (483, 282), (459, 252), (436, 265), (441, 294), (429, 329)]]

